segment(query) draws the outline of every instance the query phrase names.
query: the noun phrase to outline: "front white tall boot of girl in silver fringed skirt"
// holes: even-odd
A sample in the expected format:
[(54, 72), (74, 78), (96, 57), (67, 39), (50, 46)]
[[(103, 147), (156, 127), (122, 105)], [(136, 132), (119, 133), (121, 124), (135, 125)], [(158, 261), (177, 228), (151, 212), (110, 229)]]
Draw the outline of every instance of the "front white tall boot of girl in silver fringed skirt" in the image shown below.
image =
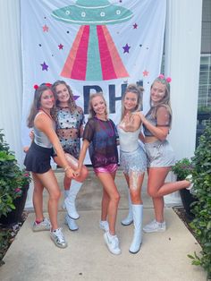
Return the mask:
[(131, 253), (137, 253), (142, 242), (142, 221), (143, 221), (143, 205), (132, 205), (134, 234), (131, 247)]

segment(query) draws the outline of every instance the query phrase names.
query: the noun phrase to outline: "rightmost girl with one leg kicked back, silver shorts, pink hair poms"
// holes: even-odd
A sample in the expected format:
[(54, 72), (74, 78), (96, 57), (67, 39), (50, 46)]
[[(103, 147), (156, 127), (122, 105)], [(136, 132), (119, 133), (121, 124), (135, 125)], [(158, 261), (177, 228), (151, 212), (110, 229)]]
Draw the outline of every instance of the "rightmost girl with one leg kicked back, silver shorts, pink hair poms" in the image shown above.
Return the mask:
[(159, 75), (150, 89), (150, 110), (146, 116), (139, 113), (144, 127), (140, 139), (145, 141), (148, 157), (148, 194), (152, 197), (156, 218), (143, 229), (146, 233), (165, 231), (164, 195), (189, 188), (190, 181), (165, 183), (165, 177), (174, 165), (174, 152), (166, 140), (172, 123), (170, 105), (170, 78)]

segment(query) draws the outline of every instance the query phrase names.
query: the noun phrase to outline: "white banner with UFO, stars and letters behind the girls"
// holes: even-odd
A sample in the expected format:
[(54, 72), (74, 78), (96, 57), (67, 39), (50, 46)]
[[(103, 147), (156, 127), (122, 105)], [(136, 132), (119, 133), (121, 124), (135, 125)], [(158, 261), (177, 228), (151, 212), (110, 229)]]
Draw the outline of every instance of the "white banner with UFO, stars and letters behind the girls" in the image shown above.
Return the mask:
[(122, 92), (149, 87), (160, 72), (165, 0), (21, 0), (23, 67), (22, 142), (35, 84), (66, 81), (88, 114), (89, 94), (102, 90), (110, 118), (119, 123)]

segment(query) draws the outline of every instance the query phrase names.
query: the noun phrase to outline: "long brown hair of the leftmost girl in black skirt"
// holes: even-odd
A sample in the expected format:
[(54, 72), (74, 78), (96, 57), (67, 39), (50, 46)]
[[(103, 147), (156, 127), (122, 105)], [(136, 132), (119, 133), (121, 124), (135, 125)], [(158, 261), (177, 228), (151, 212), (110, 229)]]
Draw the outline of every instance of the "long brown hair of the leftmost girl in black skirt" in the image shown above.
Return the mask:
[[(51, 90), (51, 88), (49, 86), (46, 86), (46, 84), (41, 84), (38, 87), (38, 89), (35, 89), (34, 100), (30, 107), (30, 115), (27, 118), (27, 125), (29, 128), (32, 128), (34, 126), (35, 116), (38, 114), (38, 110), (40, 109), (40, 106), (41, 106), (41, 104), (40, 104), (41, 96), (46, 89)], [(52, 111), (54, 111), (53, 108), (51, 110), (51, 113), (52, 113)]]

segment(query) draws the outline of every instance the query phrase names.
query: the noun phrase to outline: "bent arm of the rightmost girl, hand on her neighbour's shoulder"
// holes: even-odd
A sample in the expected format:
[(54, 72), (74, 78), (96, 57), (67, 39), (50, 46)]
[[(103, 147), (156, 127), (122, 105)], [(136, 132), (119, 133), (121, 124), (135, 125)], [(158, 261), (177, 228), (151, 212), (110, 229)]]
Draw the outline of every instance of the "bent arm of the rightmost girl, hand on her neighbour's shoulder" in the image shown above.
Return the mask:
[[(145, 116), (139, 112), (140, 119), (142, 123), (148, 128), (148, 131), (160, 141), (165, 141), (169, 133), (169, 118), (170, 115), (167, 112), (165, 106), (161, 106), (157, 109), (157, 126), (154, 126), (152, 123), (148, 122)], [(166, 123), (166, 124), (165, 124)]]

